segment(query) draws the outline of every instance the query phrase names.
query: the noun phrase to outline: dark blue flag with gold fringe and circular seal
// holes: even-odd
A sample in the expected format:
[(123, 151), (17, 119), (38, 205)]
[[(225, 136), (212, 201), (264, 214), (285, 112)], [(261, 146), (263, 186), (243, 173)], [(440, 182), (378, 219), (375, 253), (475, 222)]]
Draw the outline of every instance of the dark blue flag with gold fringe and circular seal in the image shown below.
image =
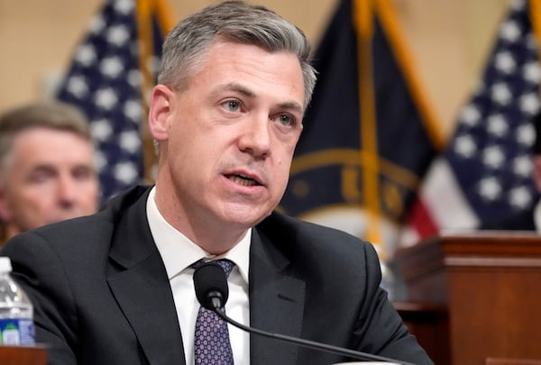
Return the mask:
[(280, 208), (393, 244), (441, 141), (389, 2), (341, 1), (315, 67)]

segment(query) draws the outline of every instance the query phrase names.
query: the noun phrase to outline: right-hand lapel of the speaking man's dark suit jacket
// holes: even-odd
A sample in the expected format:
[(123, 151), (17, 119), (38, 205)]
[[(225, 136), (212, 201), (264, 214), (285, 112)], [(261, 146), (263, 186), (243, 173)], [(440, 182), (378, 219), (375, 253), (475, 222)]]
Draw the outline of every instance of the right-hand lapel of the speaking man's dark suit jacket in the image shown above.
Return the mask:
[[(286, 273), (289, 260), (257, 230), (250, 251), (250, 324), (271, 333), (299, 337), (305, 301), (305, 282)], [(252, 365), (295, 364), (298, 346), (251, 335)]]

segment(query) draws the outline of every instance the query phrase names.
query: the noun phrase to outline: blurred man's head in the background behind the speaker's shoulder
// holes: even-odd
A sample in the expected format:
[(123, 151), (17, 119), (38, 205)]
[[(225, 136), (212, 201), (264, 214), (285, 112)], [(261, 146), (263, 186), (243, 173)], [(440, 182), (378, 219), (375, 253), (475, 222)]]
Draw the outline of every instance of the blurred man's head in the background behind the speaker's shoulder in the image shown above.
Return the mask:
[(99, 184), (87, 120), (57, 102), (0, 115), (2, 242), (44, 224), (95, 213)]

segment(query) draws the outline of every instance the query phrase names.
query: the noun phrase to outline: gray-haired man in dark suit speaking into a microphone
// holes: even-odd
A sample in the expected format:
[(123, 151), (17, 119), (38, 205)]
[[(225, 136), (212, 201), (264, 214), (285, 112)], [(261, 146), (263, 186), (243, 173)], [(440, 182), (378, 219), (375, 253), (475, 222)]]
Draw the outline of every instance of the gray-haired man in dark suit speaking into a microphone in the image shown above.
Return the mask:
[[(432, 364), (381, 289), (369, 242), (273, 213), (316, 82), (308, 59), (294, 25), (242, 2), (170, 32), (149, 113), (155, 186), (2, 251), (32, 298), (50, 364), (199, 363), (191, 265), (222, 258), (235, 264), (225, 310), (238, 322)], [(351, 360), (231, 325), (229, 334), (237, 365)]]

